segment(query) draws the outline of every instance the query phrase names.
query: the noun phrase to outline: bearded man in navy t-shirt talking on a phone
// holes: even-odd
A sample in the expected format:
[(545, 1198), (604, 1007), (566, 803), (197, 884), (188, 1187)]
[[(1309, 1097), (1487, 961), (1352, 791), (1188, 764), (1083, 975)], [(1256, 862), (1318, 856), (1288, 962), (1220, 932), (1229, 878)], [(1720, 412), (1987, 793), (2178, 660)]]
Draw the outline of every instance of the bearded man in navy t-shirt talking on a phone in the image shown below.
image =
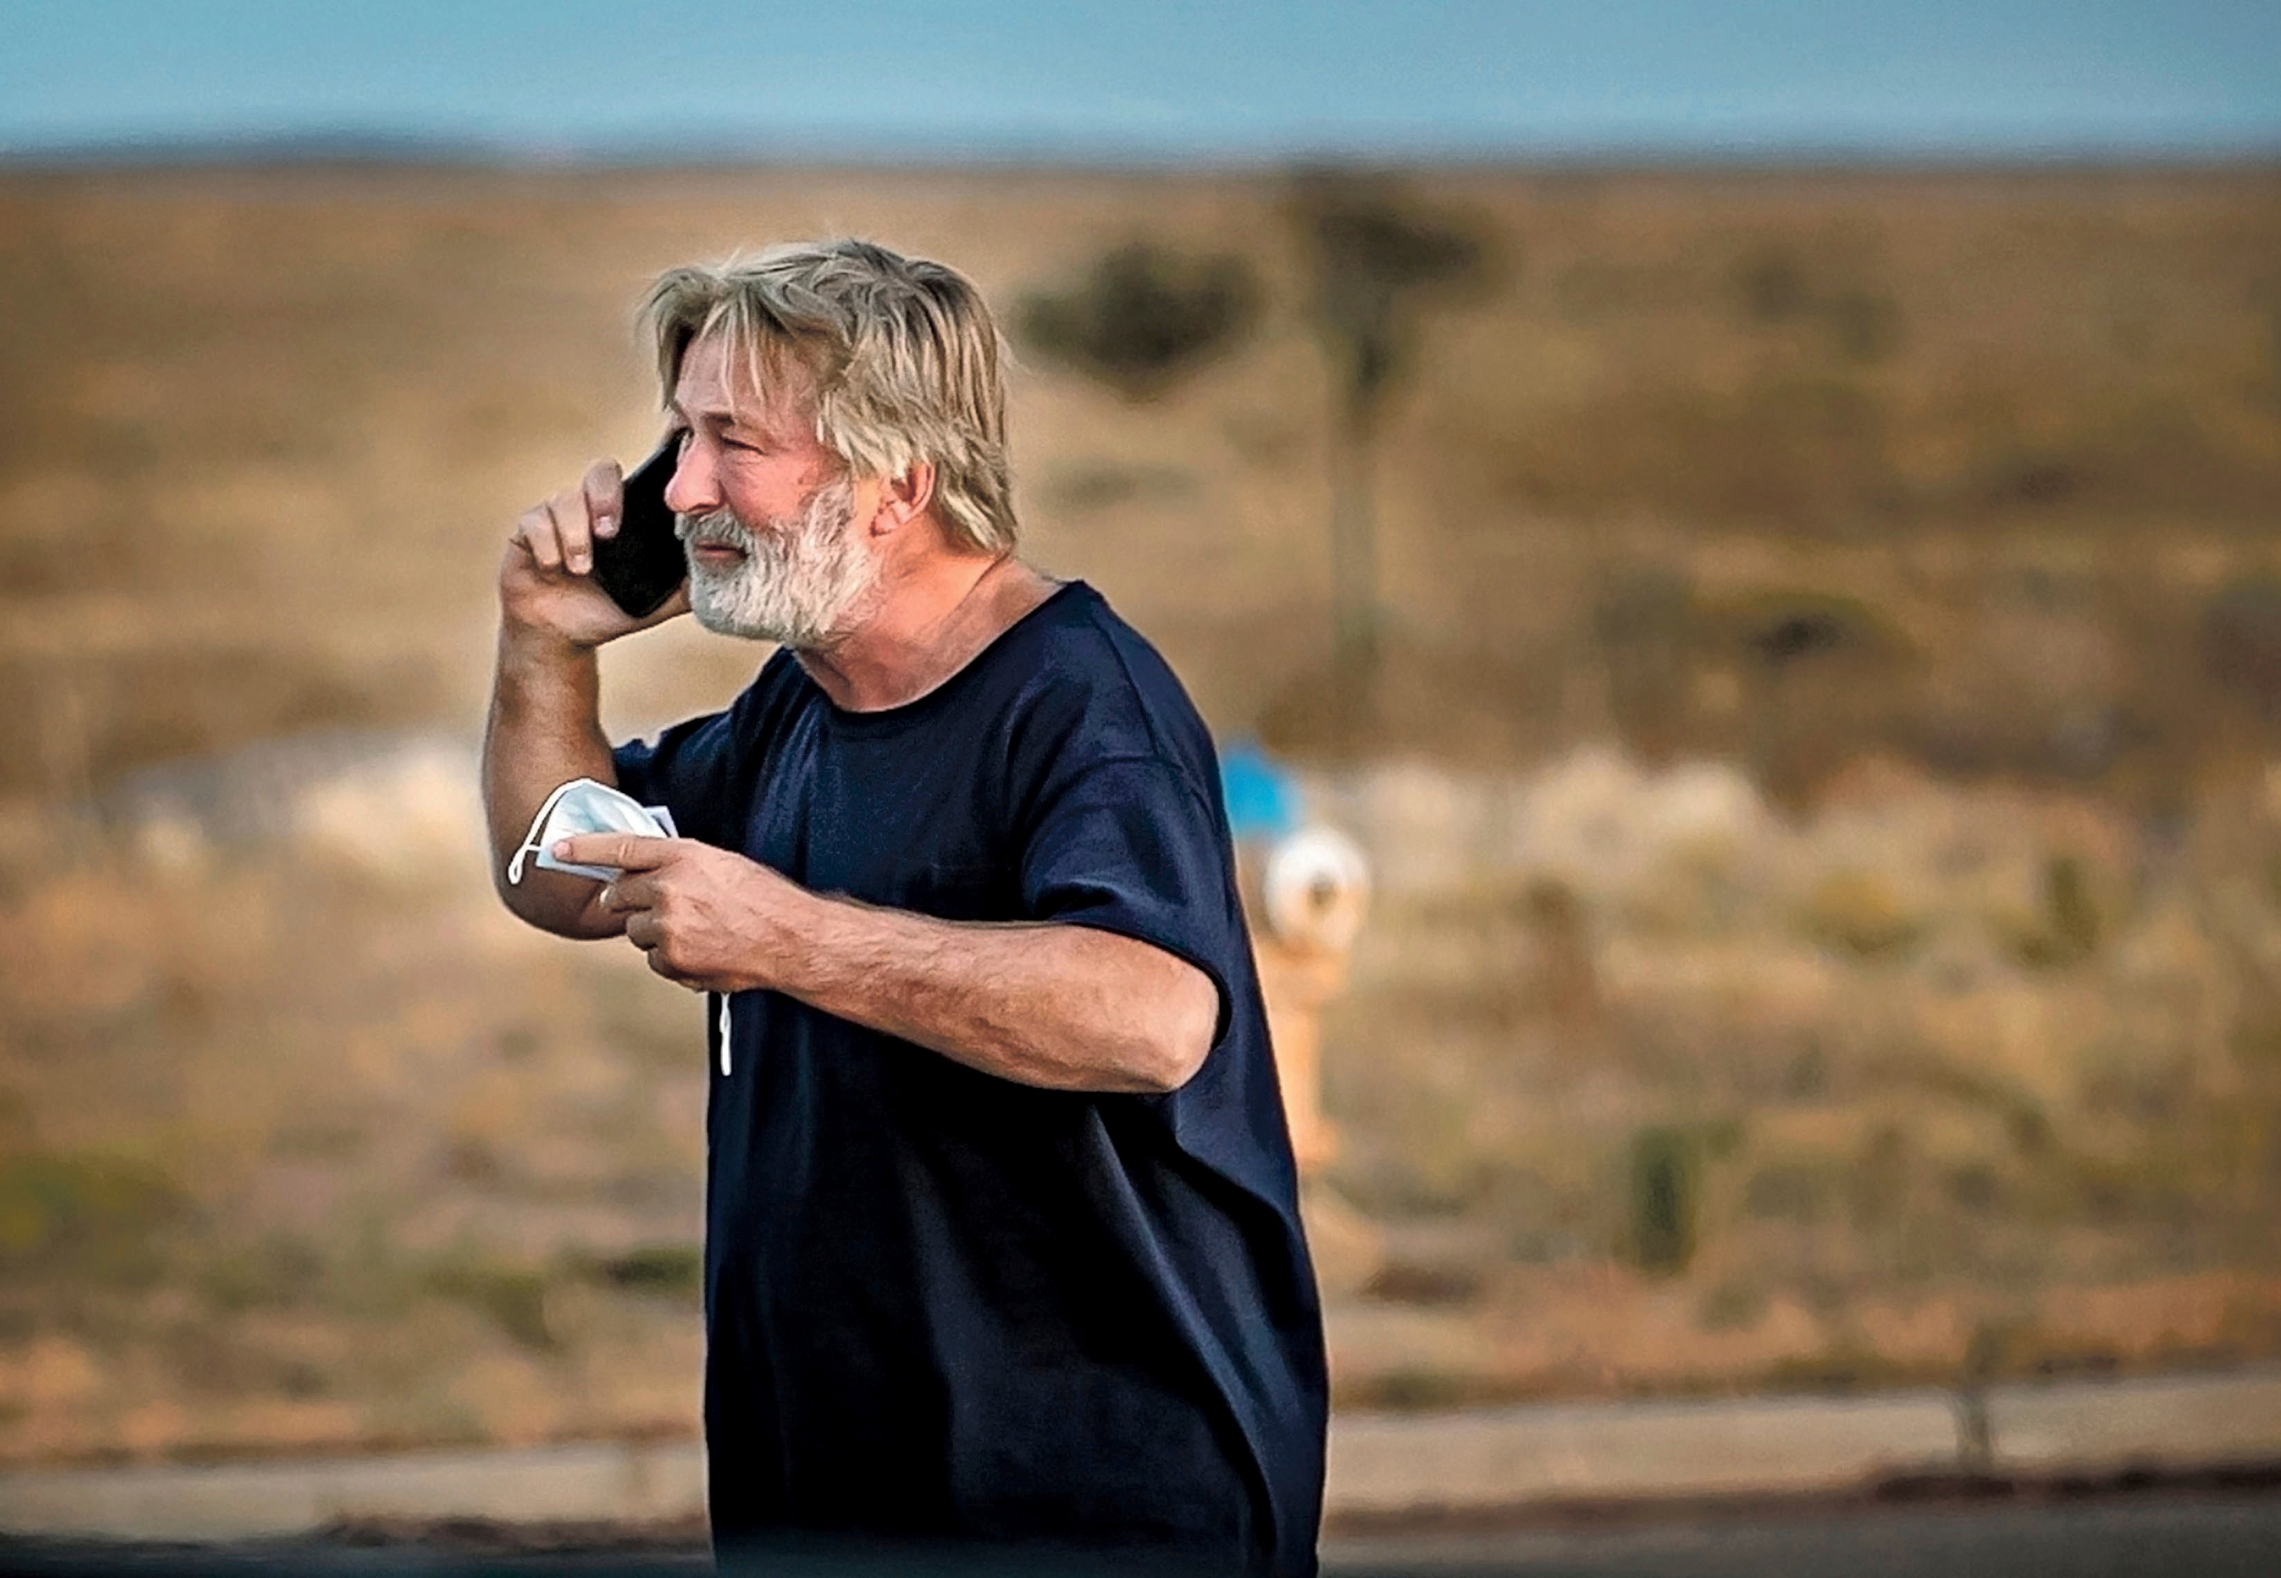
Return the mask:
[[(636, 623), (591, 584), (609, 463), (518, 522), (484, 794), (502, 862), (579, 775), (684, 835), (500, 892), (719, 994), (716, 1544), (1314, 1571), (1321, 1311), (1211, 741), (1015, 556), (988, 308), (830, 242), (675, 269), (646, 324), (687, 588)], [(689, 609), (780, 650), (611, 750), (595, 650)]]

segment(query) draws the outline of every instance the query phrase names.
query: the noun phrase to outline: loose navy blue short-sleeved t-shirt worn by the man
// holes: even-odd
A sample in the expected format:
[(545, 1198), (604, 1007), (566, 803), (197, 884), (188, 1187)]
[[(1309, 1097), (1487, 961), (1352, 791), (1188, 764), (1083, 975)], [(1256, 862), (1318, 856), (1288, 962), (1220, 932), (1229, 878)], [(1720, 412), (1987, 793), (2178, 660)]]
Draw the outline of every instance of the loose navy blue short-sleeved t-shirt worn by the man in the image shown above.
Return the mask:
[(1170, 1095), (1038, 1090), (776, 992), (730, 999), (707, 1115), (716, 1542), (1312, 1573), (1321, 1309), (1211, 737), (1154, 648), (1074, 581), (906, 707), (842, 711), (778, 652), (728, 711), (616, 764), (684, 837), (810, 889), (1097, 926), (1220, 992)]

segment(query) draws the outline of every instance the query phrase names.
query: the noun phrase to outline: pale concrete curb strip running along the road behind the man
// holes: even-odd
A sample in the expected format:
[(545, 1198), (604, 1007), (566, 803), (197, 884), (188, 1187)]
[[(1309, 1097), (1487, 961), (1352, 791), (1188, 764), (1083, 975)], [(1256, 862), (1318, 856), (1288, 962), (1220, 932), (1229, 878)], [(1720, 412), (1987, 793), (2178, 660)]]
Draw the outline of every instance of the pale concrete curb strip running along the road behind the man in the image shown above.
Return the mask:
[[(1998, 1473), (2281, 1462), (2281, 1366), (1996, 1386), (1987, 1412)], [(1328, 1500), (1332, 1528), (1380, 1528), (1547, 1503), (1845, 1494), (1959, 1462), (1955, 1398), (1939, 1391), (1339, 1414)], [(55, 1537), (260, 1539), (372, 1516), (661, 1523), (703, 1505), (693, 1441), (0, 1473), (0, 1530)]]

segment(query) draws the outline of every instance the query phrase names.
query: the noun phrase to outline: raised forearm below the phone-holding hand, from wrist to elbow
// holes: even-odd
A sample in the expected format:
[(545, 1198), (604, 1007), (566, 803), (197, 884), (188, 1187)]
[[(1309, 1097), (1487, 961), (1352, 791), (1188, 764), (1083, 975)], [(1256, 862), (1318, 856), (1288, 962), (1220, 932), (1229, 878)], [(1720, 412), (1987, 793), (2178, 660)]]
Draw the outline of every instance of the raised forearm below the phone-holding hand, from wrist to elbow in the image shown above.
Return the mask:
[(506, 908), (566, 937), (609, 937), (620, 917), (593, 905), (595, 885), (525, 860), (506, 882), (506, 862), (545, 798), (573, 778), (616, 782), (600, 723), (600, 670), (591, 648), (500, 632), (500, 666), (484, 730), (484, 816), (490, 825), (490, 880)]

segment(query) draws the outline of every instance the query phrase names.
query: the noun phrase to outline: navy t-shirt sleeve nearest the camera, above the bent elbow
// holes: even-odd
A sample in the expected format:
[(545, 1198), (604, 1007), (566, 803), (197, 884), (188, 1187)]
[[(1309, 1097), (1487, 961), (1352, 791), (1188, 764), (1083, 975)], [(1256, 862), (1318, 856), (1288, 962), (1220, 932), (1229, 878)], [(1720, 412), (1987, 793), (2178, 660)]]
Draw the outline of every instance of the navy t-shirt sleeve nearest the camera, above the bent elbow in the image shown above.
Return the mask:
[(1152, 942), (1220, 994), (1211, 1033), (1227, 1035), (1227, 960), (1245, 949), (1220, 812), (1168, 762), (1095, 762), (1056, 784), (1022, 851), (1024, 912)]

